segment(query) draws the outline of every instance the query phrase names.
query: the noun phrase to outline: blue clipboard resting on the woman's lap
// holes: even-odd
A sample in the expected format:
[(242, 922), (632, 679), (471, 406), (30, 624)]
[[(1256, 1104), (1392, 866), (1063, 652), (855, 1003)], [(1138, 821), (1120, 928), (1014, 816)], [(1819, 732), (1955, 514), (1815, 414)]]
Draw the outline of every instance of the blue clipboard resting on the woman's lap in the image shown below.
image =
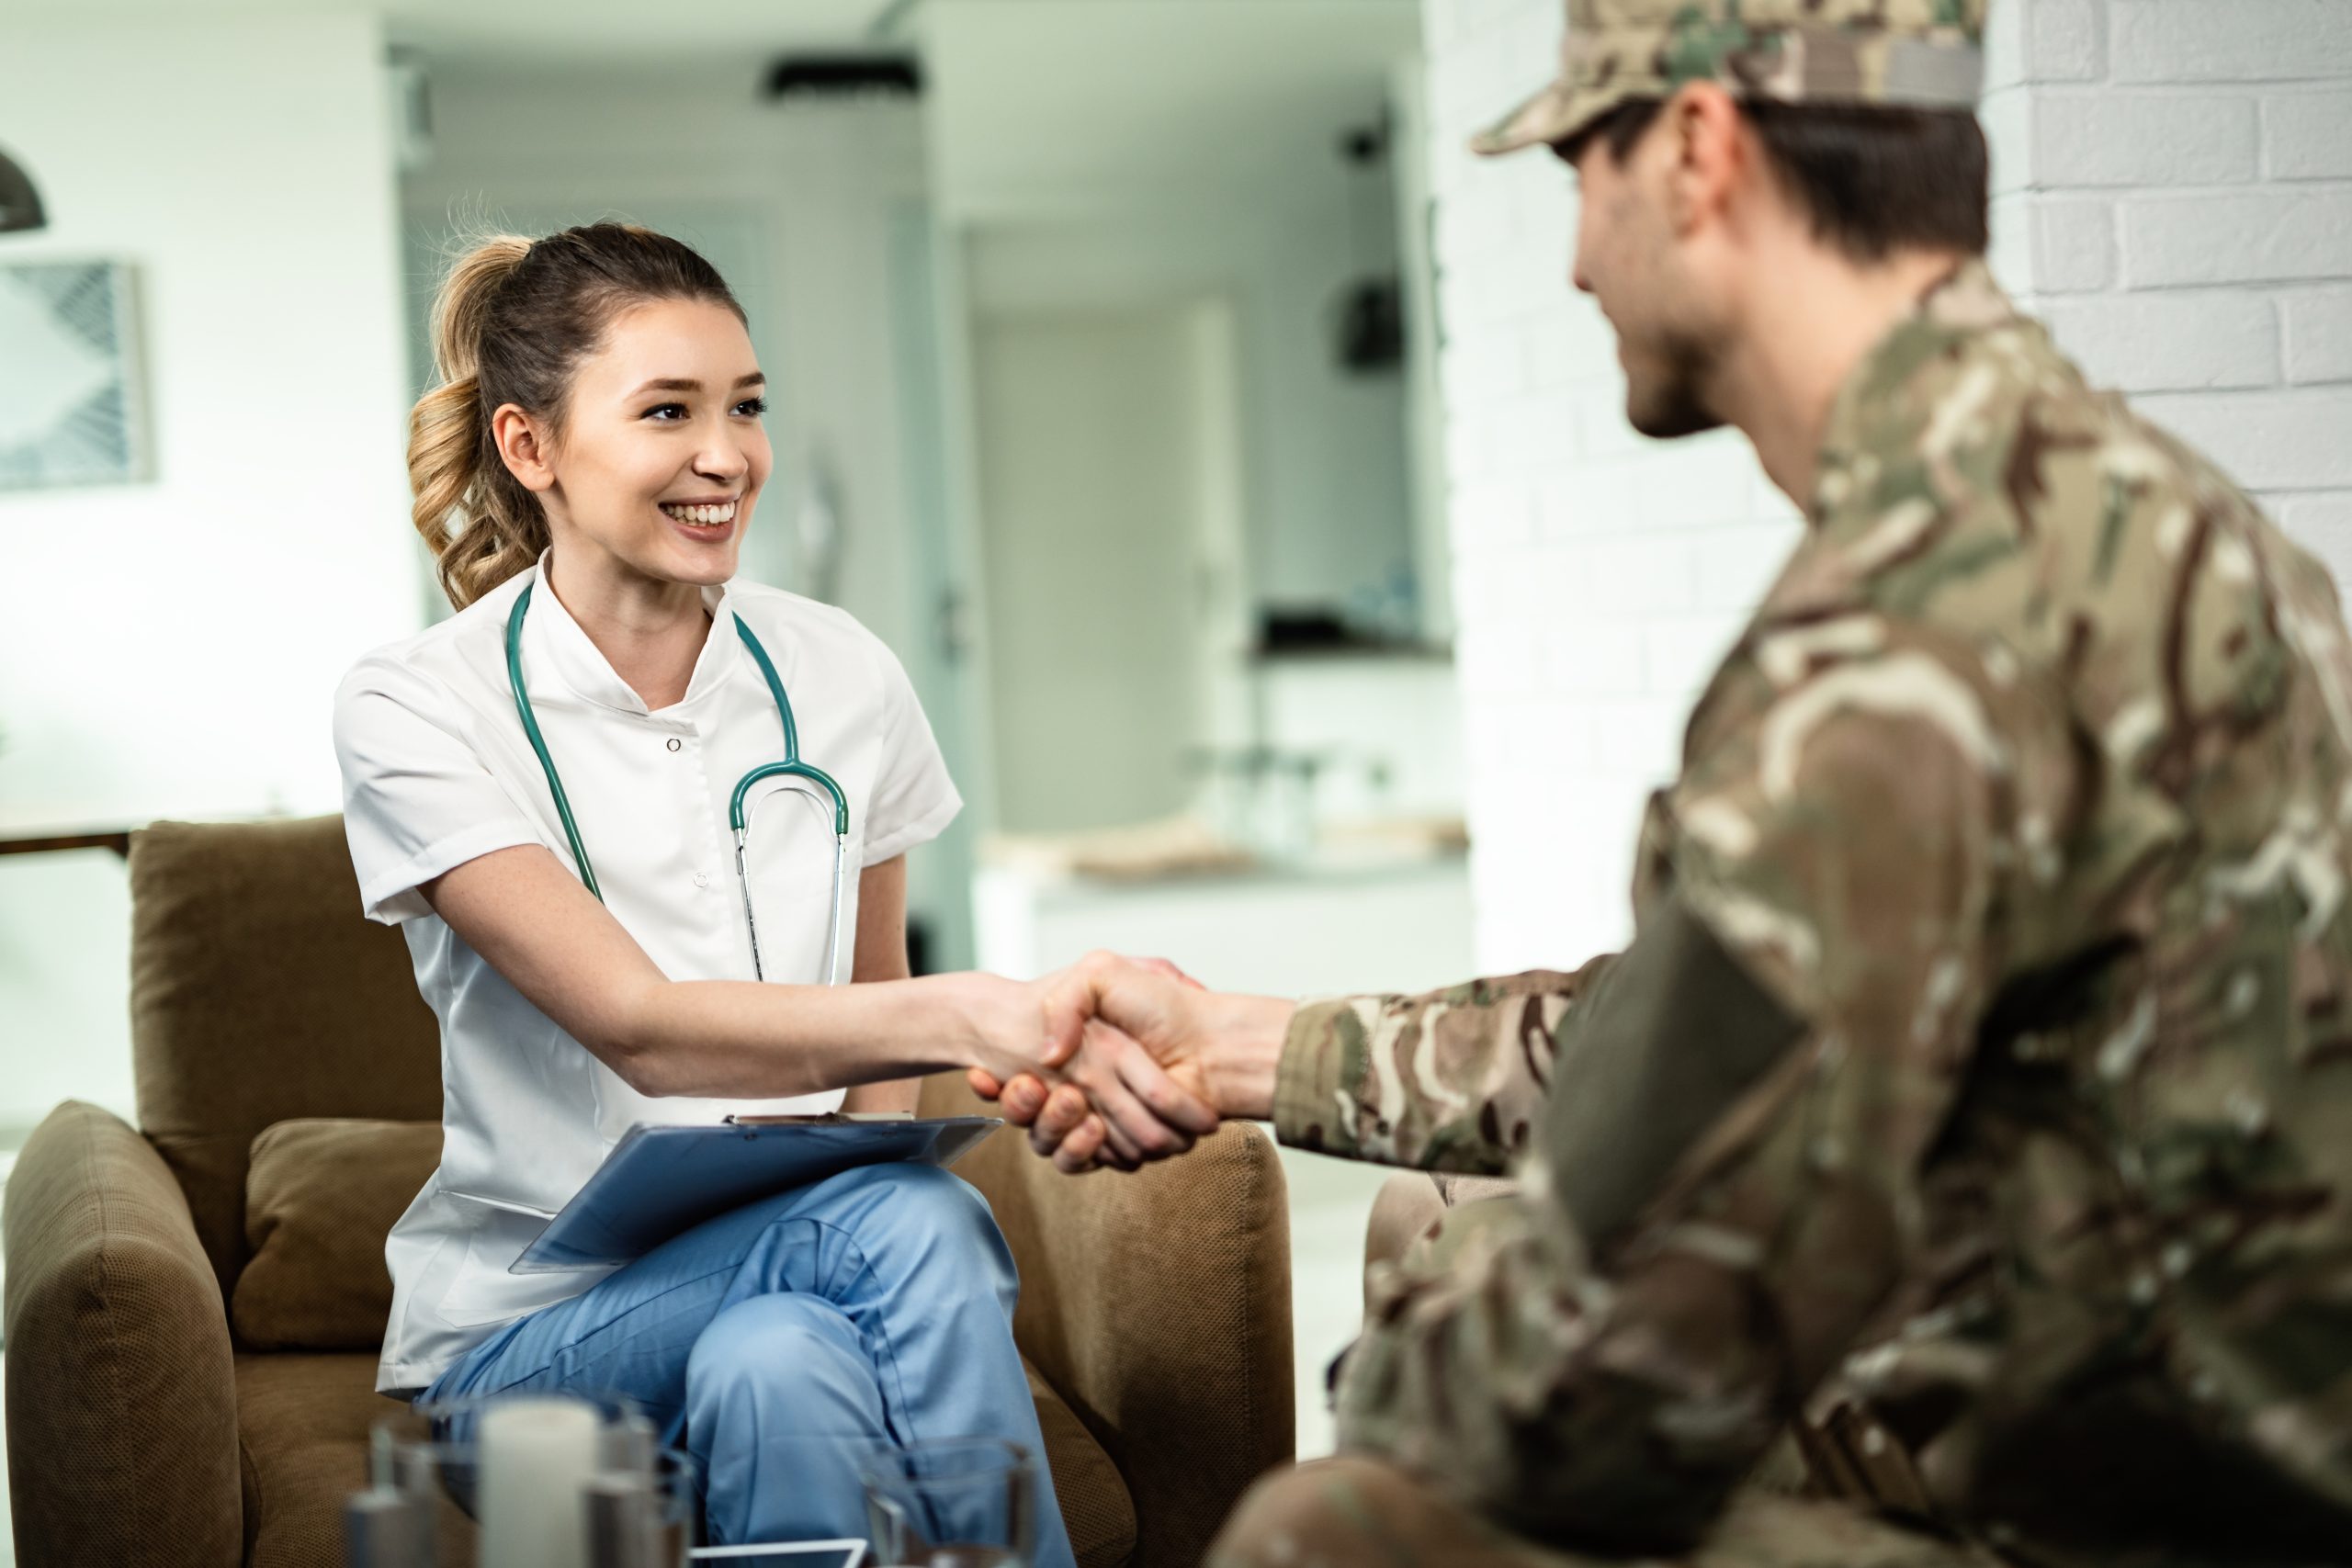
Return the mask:
[(727, 1117), (717, 1126), (644, 1124), (621, 1133), (562, 1213), (508, 1274), (619, 1267), (731, 1208), (856, 1166), (953, 1166), (1002, 1117)]

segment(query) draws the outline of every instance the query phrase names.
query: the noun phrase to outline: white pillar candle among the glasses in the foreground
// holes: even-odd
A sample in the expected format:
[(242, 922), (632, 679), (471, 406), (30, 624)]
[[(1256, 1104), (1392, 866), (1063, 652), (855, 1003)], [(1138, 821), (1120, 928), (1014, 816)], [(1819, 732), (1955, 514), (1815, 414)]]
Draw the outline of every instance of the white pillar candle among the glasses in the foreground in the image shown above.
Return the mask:
[(508, 1399), (482, 1410), (482, 1568), (583, 1568), (581, 1488), (604, 1455), (595, 1406)]

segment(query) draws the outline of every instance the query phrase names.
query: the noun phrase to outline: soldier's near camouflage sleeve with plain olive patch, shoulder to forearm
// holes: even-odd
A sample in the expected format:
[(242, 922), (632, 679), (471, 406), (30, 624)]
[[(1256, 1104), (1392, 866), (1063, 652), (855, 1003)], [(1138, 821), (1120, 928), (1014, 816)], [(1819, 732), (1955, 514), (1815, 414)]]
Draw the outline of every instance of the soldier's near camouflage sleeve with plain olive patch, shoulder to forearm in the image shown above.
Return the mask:
[(1343, 1448), (1538, 1540), (1684, 1549), (1900, 1279), (2067, 750), (2023, 684), (1884, 630), (1693, 726), (1672, 891), (1522, 1197), (1378, 1284)]

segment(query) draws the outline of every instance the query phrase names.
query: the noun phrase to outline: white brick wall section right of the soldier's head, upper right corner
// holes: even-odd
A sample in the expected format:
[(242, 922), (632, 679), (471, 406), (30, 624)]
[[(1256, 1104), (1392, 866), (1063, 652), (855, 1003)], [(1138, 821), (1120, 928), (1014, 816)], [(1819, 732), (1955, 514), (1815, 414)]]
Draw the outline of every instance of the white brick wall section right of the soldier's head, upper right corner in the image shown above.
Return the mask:
[(1994, 42), (2030, 303), (2352, 581), (2352, 2), (2032, 0)]

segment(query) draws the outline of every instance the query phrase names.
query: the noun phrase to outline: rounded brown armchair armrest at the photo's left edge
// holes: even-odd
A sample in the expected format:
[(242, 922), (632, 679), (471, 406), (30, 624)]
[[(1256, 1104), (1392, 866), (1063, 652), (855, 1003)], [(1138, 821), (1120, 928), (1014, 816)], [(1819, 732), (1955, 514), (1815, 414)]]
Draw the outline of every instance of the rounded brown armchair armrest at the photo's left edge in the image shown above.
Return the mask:
[(7, 1182), (16, 1559), (245, 1559), (228, 1314), (188, 1201), (120, 1117), (68, 1100)]

